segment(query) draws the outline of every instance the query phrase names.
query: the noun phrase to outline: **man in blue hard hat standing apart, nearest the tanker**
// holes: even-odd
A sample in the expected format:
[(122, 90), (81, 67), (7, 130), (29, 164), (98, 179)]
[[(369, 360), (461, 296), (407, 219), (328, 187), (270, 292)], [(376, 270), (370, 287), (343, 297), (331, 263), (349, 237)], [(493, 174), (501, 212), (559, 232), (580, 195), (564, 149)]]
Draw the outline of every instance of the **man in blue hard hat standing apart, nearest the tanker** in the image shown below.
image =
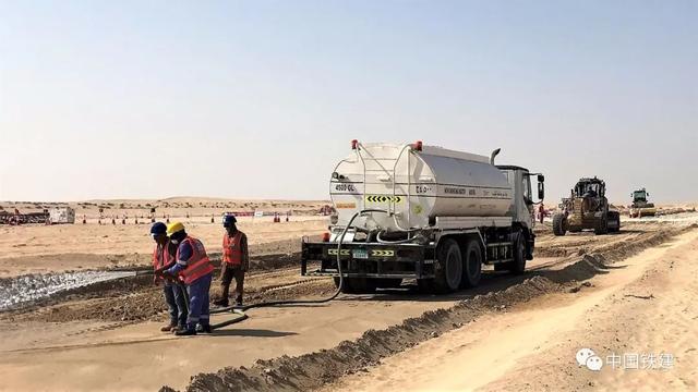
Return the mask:
[(236, 279), (236, 305), (242, 306), (242, 293), (244, 289), (244, 272), (250, 267), (250, 253), (248, 252), (248, 236), (238, 230), (234, 216), (228, 215), (222, 225), (226, 233), (222, 235), (222, 262), (220, 266), (220, 298), (214, 302), (218, 306), (228, 306), (230, 283)]

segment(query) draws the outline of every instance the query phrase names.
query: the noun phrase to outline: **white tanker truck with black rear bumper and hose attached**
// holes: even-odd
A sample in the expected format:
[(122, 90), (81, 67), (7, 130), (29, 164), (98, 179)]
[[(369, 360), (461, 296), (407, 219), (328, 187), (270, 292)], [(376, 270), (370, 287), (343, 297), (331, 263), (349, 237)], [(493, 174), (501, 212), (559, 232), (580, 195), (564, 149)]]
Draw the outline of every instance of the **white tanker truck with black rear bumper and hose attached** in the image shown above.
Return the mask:
[(404, 280), (449, 293), (477, 286), (483, 264), (522, 273), (535, 244), (531, 176), (541, 200), (544, 176), (495, 166), (498, 152), (352, 140), (329, 179), (329, 232), (303, 238), (301, 274), (333, 277), (345, 293)]

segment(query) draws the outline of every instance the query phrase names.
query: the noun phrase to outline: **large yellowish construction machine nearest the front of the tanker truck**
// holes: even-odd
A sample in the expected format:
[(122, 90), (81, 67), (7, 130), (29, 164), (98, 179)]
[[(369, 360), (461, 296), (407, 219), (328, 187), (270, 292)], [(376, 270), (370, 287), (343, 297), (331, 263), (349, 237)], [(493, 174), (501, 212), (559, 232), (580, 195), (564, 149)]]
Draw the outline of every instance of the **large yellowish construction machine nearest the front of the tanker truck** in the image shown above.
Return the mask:
[(605, 196), (603, 180), (579, 179), (568, 198), (563, 198), (562, 212), (553, 216), (553, 233), (565, 235), (585, 229), (593, 229), (595, 234), (606, 234), (621, 230), (621, 212), (611, 209)]

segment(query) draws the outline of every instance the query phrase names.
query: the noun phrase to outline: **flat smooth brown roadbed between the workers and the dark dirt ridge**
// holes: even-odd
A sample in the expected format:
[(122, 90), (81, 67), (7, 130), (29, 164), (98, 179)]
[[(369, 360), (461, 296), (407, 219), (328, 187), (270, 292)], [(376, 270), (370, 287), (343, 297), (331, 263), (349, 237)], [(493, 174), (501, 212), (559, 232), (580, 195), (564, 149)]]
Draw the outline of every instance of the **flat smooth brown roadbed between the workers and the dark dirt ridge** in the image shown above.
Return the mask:
[[(541, 258), (531, 267), (557, 260)], [(292, 269), (274, 277), (265, 273), (253, 284), (289, 283), (298, 279), (298, 270)], [(332, 287), (328, 280), (322, 281)], [(479, 291), (449, 296), (353, 295), (342, 296), (332, 305), (263, 308), (250, 311), (249, 320), (215, 336), (184, 340), (157, 332), (161, 323), (154, 322), (121, 328), (93, 321), (5, 324), (0, 330), (4, 336), (0, 344), (0, 378), (4, 385), (0, 389), (41, 390), (51, 385), (53, 390), (71, 391), (156, 390), (163, 384), (183, 388), (196, 372), (329, 348), (369, 329), (387, 328), (405, 318), (512, 283), (506, 277), (491, 277)], [(217, 316), (213, 322), (225, 317)], [(48, 379), (34, 378), (37, 371), (50, 376), (50, 383)]]

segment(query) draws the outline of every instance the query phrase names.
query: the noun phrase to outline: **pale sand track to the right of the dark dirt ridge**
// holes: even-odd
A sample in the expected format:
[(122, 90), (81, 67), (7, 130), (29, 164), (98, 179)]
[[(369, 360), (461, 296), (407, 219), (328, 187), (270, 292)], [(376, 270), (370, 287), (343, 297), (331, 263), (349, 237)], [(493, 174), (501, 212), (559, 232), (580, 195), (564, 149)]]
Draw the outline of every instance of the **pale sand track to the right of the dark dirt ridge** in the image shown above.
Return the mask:
[[(592, 289), (485, 316), (326, 390), (695, 390), (696, 250), (693, 231), (618, 264), (622, 270), (592, 279)], [(597, 372), (576, 363), (583, 347), (603, 360), (647, 355), (640, 367), (649, 366), (649, 355), (675, 359), (665, 369), (623, 369), (621, 363)]]

